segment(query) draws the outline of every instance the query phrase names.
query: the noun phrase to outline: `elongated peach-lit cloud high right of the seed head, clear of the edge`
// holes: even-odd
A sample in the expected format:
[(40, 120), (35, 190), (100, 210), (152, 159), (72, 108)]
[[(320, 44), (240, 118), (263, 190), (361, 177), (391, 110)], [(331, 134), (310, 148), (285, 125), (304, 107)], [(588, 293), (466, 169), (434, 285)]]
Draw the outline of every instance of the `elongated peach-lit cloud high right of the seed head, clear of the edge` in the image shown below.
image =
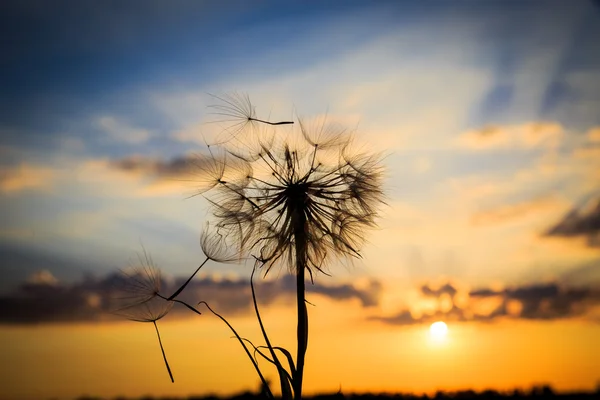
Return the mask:
[(564, 137), (557, 122), (528, 122), (521, 125), (488, 125), (459, 136), (458, 144), (473, 150), (556, 148)]

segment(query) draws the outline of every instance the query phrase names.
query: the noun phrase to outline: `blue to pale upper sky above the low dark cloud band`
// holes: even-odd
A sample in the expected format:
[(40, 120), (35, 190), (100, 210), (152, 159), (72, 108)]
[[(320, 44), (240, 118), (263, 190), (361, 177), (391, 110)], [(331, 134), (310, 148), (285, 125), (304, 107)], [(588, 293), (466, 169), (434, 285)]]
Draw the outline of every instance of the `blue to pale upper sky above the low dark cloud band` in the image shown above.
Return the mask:
[[(379, 256), (346, 278), (416, 271), (419, 279), (525, 282), (539, 265), (550, 277), (573, 268), (572, 255), (548, 260), (539, 238), (599, 188), (594, 157), (573, 158), (597, 149), (593, 2), (2, 7), (6, 254), (66, 259), (50, 263), (52, 272), (76, 279), (77, 268), (59, 265), (108, 273), (142, 243), (169, 272), (185, 274), (201, 257), (206, 217), (200, 200), (184, 200), (193, 187), (115, 166), (132, 158), (168, 166), (202, 151), (216, 132), (209, 93), (239, 91), (274, 118), (327, 112), (388, 153), (390, 207), (367, 249)], [(519, 213), (523, 220), (489, 222)], [(409, 234), (415, 226), (420, 233)], [(462, 239), (444, 244), (453, 230)], [(398, 243), (380, 241), (390, 232)], [(502, 240), (515, 232), (529, 235), (519, 250), (528, 253), (505, 267), (494, 254), (518, 253), (518, 243)], [(471, 235), (487, 238), (485, 250), (468, 247)], [(577, 251), (577, 263), (598, 259), (589, 246)], [(39, 269), (24, 264), (10, 266), (10, 285)]]

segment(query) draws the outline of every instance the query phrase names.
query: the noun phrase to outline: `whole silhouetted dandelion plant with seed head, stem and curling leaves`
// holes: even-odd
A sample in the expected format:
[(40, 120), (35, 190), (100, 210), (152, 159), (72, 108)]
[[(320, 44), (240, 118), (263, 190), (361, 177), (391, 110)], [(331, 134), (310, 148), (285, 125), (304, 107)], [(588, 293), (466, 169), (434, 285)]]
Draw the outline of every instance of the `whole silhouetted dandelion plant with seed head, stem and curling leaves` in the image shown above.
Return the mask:
[[(207, 199), (214, 219), (201, 240), (206, 259), (172, 295), (164, 297), (155, 290), (154, 297), (140, 293), (135, 299), (138, 307), (158, 298), (198, 312), (177, 296), (208, 260), (254, 260), (250, 285), (264, 346), (238, 335), (206, 302), (198, 304), (232, 330), (268, 397), (273, 394), (258, 367), (258, 356), (277, 369), (282, 397), (301, 399), (308, 346), (307, 274), (312, 281), (317, 272), (327, 274), (335, 257), (360, 257), (365, 231), (375, 226), (383, 203), (381, 157), (358, 151), (346, 129), (325, 118), (312, 124), (302, 119), (297, 124), (271, 122), (256, 116), (247, 96), (215, 98), (220, 103), (213, 110), (229, 126), (217, 144), (208, 145), (207, 153), (193, 161), (199, 185), (194, 196)], [(296, 129), (281, 130), (291, 125)], [(266, 276), (276, 265), (296, 278), (295, 360), (288, 350), (271, 344), (254, 291), (255, 272)]]

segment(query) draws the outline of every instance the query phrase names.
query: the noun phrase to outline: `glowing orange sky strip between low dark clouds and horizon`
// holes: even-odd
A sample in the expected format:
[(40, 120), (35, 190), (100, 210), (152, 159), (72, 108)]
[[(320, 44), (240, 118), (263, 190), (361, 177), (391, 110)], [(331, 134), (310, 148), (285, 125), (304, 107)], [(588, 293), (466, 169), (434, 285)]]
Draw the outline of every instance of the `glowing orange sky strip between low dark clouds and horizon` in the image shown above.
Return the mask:
[[(581, 321), (449, 323), (434, 341), (428, 326), (385, 327), (361, 322), (363, 311), (321, 297), (310, 309), (307, 393), (438, 389), (513, 389), (551, 383), (558, 390), (595, 388), (600, 371), (600, 326)], [(293, 348), (292, 309), (273, 307), (264, 318), (273, 340)], [(82, 394), (231, 394), (258, 385), (251, 364), (216, 318), (161, 321), (175, 376), (168, 378), (153, 327), (123, 322), (2, 328), (3, 399)], [(232, 318), (258, 341), (250, 317)], [(280, 340), (278, 340), (281, 338)], [(287, 340), (285, 340), (287, 339)], [(6, 346), (6, 344), (10, 344)], [(271, 371), (270, 376), (274, 378)]]

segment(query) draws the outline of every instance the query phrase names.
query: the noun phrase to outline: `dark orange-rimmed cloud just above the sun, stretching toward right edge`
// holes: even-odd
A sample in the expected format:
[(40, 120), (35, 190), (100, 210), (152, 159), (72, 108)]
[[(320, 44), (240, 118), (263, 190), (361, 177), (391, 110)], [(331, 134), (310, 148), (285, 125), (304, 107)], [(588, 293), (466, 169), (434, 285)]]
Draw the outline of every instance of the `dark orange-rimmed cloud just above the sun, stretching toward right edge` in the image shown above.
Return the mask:
[[(403, 308), (391, 315), (376, 315), (369, 319), (389, 325), (430, 324), (439, 320), (491, 322), (503, 318), (558, 320), (586, 318), (600, 306), (600, 287), (567, 287), (556, 282), (504, 289), (484, 287), (464, 294), (447, 283), (438, 289), (423, 285), (420, 293), (424, 297), (435, 298), (438, 306), (428, 312)], [(442, 300), (448, 296), (451, 304), (444, 306)], [(462, 298), (459, 299), (459, 296)]]

